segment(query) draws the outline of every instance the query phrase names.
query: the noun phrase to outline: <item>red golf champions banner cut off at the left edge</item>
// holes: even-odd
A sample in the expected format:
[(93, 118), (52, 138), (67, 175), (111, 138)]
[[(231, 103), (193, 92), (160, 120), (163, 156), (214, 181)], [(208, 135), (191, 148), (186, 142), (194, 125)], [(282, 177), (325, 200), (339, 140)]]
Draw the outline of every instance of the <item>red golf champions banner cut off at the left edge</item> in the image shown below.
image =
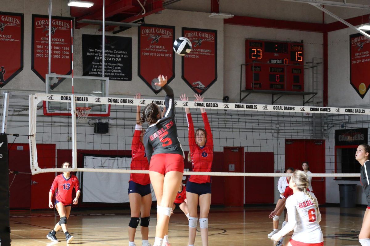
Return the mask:
[(23, 70), (23, 15), (0, 12), (0, 88)]

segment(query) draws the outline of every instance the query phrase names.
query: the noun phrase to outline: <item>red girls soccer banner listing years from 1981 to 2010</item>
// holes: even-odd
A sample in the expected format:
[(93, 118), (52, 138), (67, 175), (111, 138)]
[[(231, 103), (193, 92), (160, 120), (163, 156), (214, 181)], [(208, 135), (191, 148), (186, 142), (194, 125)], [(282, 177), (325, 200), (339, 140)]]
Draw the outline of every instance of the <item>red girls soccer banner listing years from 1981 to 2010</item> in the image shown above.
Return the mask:
[[(50, 73), (72, 73), (71, 21), (73, 18), (51, 17), (51, 69)], [(73, 27), (72, 27), (73, 28)], [(32, 62), (31, 69), (45, 82), (48, 73), (49, 17), (32, 15)], [(58, 84), (55, 84), (55, 87)], [(54, 88), (55, 88), (54, 87)], [(52, 89), (54, 89), (52, 88)]]

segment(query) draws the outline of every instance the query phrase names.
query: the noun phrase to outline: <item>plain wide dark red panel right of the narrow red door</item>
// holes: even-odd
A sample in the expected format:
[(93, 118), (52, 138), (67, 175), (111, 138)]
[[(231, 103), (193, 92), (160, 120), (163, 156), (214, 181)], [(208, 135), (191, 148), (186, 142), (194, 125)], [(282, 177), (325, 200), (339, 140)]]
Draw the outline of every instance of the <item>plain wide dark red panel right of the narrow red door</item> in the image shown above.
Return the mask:
[[(273, 173), (273, 152), (245, 152), (246, 173)], [(245, 204), (274, 203), (273, 177), (245, 177)]]

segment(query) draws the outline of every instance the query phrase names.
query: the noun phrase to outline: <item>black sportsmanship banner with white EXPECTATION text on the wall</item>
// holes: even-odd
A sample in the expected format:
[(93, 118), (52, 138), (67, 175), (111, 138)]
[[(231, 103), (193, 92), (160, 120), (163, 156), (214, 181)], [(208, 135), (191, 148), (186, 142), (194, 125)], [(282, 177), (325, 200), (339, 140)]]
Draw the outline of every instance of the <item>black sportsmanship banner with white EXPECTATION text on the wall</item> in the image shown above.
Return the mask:
[[(131, 38), (105, 36), (104, 77), (110, 80), (132, 79)], [(102, 76), (102, 36), (82, 35), (82, 69), (84, 76)]]

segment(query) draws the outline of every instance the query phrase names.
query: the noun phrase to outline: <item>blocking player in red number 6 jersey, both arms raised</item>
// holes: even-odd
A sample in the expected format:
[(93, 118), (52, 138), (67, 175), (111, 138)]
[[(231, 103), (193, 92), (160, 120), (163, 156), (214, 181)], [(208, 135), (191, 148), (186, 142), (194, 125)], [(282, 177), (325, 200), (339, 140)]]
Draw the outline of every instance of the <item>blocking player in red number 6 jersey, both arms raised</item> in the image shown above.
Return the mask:
[[(181, 95), (182, 101), (188, 101), (186, 95)], [(202, 102), (204, 98), (195, 95), (195, 100)], [(193, 171), (210, 172), (213, 161), (213, 137), (207, 113), (201, 108), (204, 129), (194, 132), (194, 124), (189, 108), (185, 108), (189, 130), (189, 148)], [(196, 224), (198, 220), (198, 200), (201, 213), (199, 224), (201, 227), (202, 245), (208, 245), (208, 213), (211, 206), (211, 176), (192, 175), (186, 183), (186, 198), (189, 208), (189, 246), (194, 246)]]

